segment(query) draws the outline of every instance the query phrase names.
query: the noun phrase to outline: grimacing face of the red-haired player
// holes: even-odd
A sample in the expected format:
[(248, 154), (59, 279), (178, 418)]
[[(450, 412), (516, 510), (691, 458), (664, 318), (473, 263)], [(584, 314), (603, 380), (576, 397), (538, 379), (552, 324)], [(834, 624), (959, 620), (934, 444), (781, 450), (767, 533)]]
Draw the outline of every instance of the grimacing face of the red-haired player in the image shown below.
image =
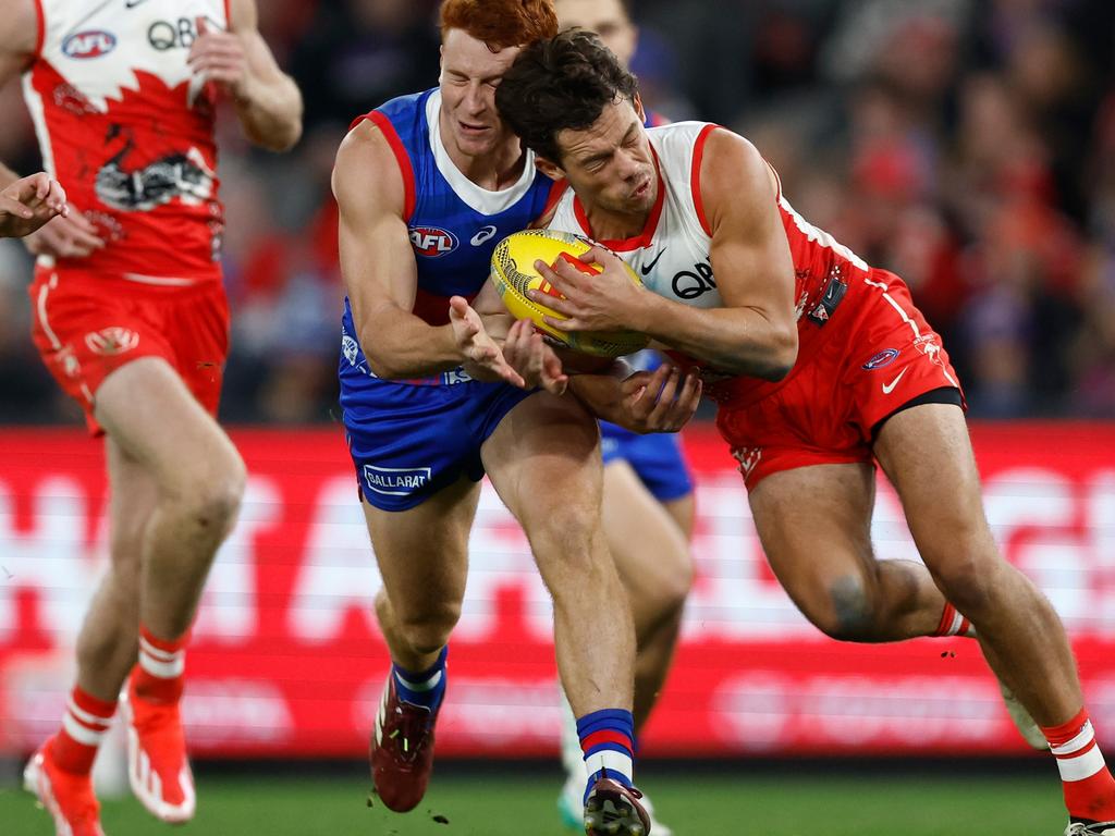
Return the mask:
[(463, 154), (481, 156), (510, 136), (495, 109), (495, 88), (518, 47), (493, 52), (482, 40), (450, 29), (442, 43), (442, 138)]

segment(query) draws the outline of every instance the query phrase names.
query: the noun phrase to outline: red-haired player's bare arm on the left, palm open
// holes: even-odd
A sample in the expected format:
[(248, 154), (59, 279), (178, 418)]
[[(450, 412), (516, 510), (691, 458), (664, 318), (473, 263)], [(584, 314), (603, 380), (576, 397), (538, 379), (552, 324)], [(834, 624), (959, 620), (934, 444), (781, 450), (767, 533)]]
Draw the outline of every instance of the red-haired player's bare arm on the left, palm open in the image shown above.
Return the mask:
[(341, 275), (357, 337), (371, 370), (406, 380), (472, 363), (471, 373), (516, 386), (522, 378), (503, 359), (479, 314), (459, 298), (450, 323), (429, 325), (411, 313), (418, 289), (414, 250), (403, 220), (403, 176), (379, 128), (363, 121), (337, 153), (333, 194), (340, 210)]

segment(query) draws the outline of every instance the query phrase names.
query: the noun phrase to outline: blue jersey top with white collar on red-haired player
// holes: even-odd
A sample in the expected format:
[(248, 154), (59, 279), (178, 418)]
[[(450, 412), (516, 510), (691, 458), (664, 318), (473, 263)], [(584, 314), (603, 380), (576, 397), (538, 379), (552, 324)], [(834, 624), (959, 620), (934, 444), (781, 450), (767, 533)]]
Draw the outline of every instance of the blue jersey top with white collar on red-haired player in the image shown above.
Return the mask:
[(537, 174), (529, 150), (508, 188), (491, 192), (473, 183), (442, 142), (440, 107), (434, 88), (391, 99), (353, 123), (375, 123), (399, 164), (404, 220), (418, 266), (414, 313), (432, 325), (449, 321), (449, 297), (472, 300), (481, 291), (495, 245), (543, 214), (553, 186)]

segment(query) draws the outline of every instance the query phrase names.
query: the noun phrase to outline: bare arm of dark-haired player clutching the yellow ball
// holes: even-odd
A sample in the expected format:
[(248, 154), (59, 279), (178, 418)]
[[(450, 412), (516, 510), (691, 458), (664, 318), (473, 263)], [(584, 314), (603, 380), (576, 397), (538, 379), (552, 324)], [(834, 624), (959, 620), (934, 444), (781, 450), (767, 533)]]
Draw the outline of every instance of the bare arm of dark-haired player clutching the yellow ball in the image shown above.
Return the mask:
[(564, 331), (641, 331), (719, 371), (778, 380), (797, 356), (797, 327), (794, 266), (768, 168), (750, 143), (716, 130), (700, 183), (724, 308), (692, 308), (641, 289), (617, 255), (594, 247), (582, 260), (602, 265), (599, 275), (565, 263), (535, 265), (565, 297), (544, 301), (569, 319), (546, 321)]

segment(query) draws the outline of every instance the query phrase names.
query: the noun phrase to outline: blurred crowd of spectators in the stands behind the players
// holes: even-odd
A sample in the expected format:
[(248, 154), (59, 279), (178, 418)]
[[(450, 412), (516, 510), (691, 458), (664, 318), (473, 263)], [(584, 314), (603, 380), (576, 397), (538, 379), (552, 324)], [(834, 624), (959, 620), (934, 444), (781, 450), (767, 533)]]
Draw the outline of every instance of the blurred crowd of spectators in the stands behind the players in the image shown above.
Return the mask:
[[(223, 418), (329, 421), (333, 154), (355, 116), (437, 82), (437, 2), (259, 11), (307, 129), (272, 156), (221, 121)], [(1115, 2), (636, 0), (632, 17), (646, 103), (743, 133), (801, 214), (901, 274), (973, 417), (1115, 418)], [(0, 159), (37, 169), (19, 85), (0, 113)], [(77, 421), (31, 347), (30, 274), (23, 247), (0, 242), (0, 421)]]

